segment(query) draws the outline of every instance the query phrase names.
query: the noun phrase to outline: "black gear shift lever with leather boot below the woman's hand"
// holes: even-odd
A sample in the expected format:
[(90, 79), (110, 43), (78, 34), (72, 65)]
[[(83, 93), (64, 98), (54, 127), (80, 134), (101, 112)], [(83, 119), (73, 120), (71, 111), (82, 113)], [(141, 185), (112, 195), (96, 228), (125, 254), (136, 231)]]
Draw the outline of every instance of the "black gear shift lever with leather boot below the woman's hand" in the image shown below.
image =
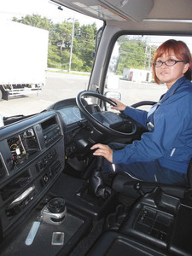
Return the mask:
[(96, 157), (96, 170), (90, 176), (89, 190), (92, 194), (105, 199), (111, 194), (111, 189), (106, 187), (102, 181), (101, 171), (103, 162), (104, 158), (102, 156)]

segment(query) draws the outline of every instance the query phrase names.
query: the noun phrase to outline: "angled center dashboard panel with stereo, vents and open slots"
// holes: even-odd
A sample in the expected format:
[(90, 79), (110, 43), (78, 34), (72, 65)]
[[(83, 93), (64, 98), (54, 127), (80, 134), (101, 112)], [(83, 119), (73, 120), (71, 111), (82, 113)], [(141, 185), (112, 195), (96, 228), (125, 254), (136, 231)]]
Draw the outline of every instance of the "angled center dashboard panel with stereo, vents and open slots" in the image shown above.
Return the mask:
[(0, 137), (0, 239), (30, 212), (65, 166), (64, 135), (55, 111), (4, 126)]

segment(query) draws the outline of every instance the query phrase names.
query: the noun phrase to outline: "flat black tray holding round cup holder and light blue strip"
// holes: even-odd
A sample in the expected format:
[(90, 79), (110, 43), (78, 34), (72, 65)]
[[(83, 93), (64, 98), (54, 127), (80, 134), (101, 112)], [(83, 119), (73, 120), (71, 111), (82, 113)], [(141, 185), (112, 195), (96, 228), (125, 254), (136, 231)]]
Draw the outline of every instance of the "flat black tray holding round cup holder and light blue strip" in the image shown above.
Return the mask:
[(9, 244), (2, 244), (0, 255), (68, 255), (90, 226), (90, 218), (61, 197), (46, 195), (9, 236)]

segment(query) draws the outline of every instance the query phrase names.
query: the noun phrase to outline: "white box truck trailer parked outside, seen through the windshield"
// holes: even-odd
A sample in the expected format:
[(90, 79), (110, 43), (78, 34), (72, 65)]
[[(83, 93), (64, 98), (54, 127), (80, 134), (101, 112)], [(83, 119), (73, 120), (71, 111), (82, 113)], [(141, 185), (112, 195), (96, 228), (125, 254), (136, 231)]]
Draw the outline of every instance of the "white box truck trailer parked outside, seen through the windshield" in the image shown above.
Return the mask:
[(0, 35), (0, 100), (38, 94), (45, 84), (49, 32), (6, 21)]

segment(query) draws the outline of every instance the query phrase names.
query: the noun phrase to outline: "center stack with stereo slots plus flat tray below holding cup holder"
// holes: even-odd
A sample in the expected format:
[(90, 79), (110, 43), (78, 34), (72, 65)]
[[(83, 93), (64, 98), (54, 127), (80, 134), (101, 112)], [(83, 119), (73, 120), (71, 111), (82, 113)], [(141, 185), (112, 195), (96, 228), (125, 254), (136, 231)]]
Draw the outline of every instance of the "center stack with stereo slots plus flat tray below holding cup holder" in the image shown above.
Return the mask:
[(96, 198), (87, 180), (63, 173), (55, 111), (6, 126), (0, 147), (0, 255), (68, 255), (115, 207), (113, 192)]

